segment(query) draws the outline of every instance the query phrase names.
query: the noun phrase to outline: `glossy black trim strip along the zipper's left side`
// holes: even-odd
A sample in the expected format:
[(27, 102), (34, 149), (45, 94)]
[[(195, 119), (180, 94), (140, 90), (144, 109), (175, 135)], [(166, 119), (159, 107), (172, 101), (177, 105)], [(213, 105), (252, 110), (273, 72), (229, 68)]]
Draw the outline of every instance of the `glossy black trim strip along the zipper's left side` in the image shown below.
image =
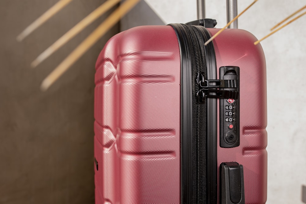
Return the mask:
[(181, 203), (192, 203), (192, 67), (187, 32), (170, 24), (177, 35), (181, 54)]

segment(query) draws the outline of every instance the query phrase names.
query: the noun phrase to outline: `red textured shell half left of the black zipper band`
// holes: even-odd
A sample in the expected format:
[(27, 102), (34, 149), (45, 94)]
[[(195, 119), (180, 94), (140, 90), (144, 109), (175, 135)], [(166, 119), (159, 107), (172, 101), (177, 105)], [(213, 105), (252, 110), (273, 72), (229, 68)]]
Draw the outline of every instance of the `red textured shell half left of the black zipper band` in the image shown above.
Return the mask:
[(96, 203), (179, 203), (180, 51), (170, 26), (115, 35), (95, 75)]

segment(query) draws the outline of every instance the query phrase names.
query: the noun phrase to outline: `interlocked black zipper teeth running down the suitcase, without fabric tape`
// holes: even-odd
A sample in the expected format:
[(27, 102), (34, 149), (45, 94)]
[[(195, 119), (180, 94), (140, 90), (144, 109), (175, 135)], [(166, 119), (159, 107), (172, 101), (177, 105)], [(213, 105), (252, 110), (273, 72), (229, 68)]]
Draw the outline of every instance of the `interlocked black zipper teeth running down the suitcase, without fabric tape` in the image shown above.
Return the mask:
[[(184, 25), (184, 27), (186, 28), (186, 30), (188, 31), (188, 34), (191, 37), (191, 41), (192, 41), (192, 46), (193, 46), (193, 50), (195, 53), (195, 63), (196, 63), (196, 69), (197, 72), (202, 72), (201, 69), (201, 57), (200, 57), (200, 53), (199, 53), (199, 49), (196, 49), (196, 45), (198, 47), (200, 47), (200, 43), (198, 41), (198, 39), (196, 38), (196, 34), (195, 31), (191, 28), (189, 29), (187, 26)], [(192, 30), (192, 31), (191, 31)], [(196, 86), (196, 92), (199, 91), (199, 87)], [(203, 184), (202, 184), (202, 175), (203, 175), (203, 168), (201, 165), (202, 162), (202, 155), (203, 155), (203, 151), (202, 151), (202, 125), (201, 125), (201, 121), (202, 121), (202, 117), (203, 117), (203, 109), (202, 109), (202, 104), (197, 104), (197, 128), (196, 128), (196, 135), (197, 135), (197, 203), (203, 203), (202, 200), (202, 194), (203, 194)]]

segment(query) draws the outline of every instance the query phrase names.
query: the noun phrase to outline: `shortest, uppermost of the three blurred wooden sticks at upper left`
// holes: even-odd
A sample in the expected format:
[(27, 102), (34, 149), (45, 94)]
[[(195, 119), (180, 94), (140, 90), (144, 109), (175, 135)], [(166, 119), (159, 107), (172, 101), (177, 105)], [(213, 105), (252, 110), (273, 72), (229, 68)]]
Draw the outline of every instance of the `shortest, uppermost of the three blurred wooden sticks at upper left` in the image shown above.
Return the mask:
[(52, 6), (49, 10), (47, 10), (43, 15), (41, 15), (38, 19), (36, 19), (31, 25), (29, 25), (24, 31), (17, 36), (17, 41), (22, 41), (25, 37), (30, 35), (36, 28), (41, 26), (47, 20), (49, 20), (52, 16), (58, 13), (62, 8), (64, 8), (68, 3), (73, 0), (60, 0), (54, 6)]

